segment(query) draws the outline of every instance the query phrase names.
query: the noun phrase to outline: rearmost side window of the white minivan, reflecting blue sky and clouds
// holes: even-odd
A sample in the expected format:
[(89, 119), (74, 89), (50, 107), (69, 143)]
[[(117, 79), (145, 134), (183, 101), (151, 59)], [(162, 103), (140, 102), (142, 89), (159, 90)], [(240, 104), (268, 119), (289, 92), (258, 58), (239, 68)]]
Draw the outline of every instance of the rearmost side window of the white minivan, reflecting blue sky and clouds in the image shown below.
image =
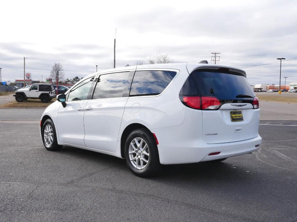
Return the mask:
[(176, 72), (164, 70), (136, 71), (130, 96), (158, 95), (172, 81)]

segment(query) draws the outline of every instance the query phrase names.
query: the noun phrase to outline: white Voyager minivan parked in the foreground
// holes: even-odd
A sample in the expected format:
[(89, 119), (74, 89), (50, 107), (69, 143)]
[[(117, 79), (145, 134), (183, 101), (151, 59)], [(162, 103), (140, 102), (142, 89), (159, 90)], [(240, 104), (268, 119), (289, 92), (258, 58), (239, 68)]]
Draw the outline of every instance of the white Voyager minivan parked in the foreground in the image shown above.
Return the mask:
[(259, 149), (259, 100), (246, 73), (210, 64), (154, 64), (86, 76), (40, 120), (46, 149), (124, 158), (138, 176), (160, 164), (222, 161)]

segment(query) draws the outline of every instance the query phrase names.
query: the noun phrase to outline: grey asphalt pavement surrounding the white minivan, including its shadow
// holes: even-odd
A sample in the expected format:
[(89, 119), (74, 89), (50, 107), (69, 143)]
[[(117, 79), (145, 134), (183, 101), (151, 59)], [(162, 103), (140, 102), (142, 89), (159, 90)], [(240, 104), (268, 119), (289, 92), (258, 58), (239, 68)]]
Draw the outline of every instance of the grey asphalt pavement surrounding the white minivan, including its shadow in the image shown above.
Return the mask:
[(125, 161), (39, 136), (43, 109), (0, 109), (0, 221), (297, 221), (297, 121), (261, 120), (259, 151), (169, 165)]

